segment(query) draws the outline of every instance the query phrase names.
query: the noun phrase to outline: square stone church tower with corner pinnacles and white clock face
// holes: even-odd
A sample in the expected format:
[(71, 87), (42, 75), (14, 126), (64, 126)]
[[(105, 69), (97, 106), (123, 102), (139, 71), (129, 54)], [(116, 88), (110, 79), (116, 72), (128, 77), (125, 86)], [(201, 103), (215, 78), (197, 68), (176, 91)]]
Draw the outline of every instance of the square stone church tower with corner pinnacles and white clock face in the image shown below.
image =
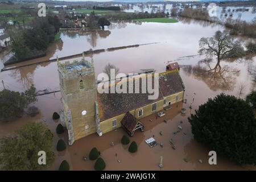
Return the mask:
[(68, 129), (68, 143), (89, 134), (98, 133), (100, 119), (98, 118), (97, 86), (93, 60), (84, 59), (61, 64), (57, 58), (61, 92), (61, 124)]

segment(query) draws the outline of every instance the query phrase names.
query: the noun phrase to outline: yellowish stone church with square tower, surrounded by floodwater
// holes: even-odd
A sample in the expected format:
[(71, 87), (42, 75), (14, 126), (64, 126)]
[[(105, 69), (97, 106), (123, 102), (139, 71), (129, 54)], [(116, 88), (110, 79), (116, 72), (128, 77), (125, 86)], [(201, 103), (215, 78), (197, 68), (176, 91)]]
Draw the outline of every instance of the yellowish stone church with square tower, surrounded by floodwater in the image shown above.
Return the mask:
[(57, 59), (61, 91), (61, 124), (67, 127), (69, 144), (97, 133), (123, 127), (129, 135), (144, 130), (139, 119), (183, 101), (184, 84), (177, 70), (159, 73), (159, 97), (147, 93), (98, 93), (93, 60), (61, 64)]

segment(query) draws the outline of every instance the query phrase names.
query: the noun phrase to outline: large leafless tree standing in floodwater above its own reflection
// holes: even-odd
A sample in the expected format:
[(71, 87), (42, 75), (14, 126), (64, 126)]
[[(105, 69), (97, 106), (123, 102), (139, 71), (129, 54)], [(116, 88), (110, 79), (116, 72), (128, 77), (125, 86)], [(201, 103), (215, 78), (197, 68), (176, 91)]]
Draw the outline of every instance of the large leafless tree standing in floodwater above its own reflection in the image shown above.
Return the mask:
[(206, 56), (217, 56), (218, 63), (224, 59), (228, 53), (239, 46), (239, 42), (234, 42), (227, 31), (216, 31), (211, 38), (201, 38), (199, 41), (199, 54)]

